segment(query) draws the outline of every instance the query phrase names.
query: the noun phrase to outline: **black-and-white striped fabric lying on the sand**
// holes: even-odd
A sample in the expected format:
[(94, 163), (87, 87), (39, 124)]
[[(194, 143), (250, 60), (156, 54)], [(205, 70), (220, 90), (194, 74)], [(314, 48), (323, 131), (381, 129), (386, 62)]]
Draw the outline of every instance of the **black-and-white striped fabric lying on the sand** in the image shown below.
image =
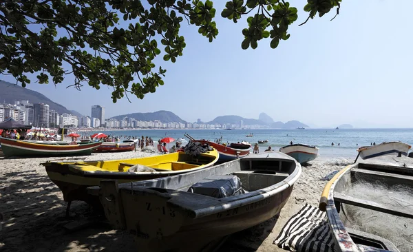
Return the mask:
[(290, 251), (338, 251), (326, 213), (310, 204), (287, 221), (274, 244)]

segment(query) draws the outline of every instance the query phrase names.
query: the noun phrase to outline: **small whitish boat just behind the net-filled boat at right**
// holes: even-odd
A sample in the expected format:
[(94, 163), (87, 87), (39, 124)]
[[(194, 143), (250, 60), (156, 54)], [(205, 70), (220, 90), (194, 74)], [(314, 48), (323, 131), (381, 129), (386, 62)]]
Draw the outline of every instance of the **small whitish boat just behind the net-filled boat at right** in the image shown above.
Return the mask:
[(357, 151), (359, 151), (358, 156), (360, 156), (360, 158), (368, 159), (377, 156), (394, 155), (398, 154), (399, 152), (401, 152), (403, 156), (407, 156), (407, 153), (409, 152), (410, 148), (411, 146), (407, 145), (407, 143), (384, 142), (379, 145), (359, 147)]

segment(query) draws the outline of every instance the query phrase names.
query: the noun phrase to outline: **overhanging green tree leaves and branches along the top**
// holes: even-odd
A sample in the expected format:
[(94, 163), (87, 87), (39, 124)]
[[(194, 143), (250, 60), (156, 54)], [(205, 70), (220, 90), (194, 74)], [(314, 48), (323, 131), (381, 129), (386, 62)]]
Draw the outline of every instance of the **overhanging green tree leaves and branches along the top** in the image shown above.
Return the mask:
[[(308, 19), (332, 8), (338, 14), (341, 2), (307, 1)], [(78, 89), (84, 84), (97, 90), (113, 87), (114, 103), (127, 93), (143, 98), (164, 84), (166, 70), (153, 63), (156, 56), (173, 63), (182, 56), (182, 22), (196, 25), (212, 42), (218, 35), (215, 11), (209, 0), (3, 0), (0, 74), (12, 74), (23, 87), (30, 83), (28, 73), (37, 74), (41, 84), (52, 78), (55, 85), (72, 74)], [(277, 48), (290, 37), (288, 26), (297, 20), (297, 9), (283, 0), (233, 0), (221, 12), (235, 23), (243, 15), (249, 16), (243, 49), (255, 49), (265, 38)], [(129, 26), (120, 28), (120, 19)]]

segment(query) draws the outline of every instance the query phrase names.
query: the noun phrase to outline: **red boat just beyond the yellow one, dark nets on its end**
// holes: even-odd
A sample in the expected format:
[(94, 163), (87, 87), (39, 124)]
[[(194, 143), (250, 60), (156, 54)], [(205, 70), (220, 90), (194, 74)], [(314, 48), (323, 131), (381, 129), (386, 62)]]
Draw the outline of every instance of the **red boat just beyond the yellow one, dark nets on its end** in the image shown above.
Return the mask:
[(189, 134), (185, 134), (184, 136), (193, 142), (201, 143), (201, 145), (209, 145), (216, 149), (220, 153), (220, 162), (244, 158), (248, 156), (252, 149), (251, 145), (248, 144), (230, 143), (229, 145), (222, 145), (208, 140), (195, 140), (192, 136), (189, 136)]

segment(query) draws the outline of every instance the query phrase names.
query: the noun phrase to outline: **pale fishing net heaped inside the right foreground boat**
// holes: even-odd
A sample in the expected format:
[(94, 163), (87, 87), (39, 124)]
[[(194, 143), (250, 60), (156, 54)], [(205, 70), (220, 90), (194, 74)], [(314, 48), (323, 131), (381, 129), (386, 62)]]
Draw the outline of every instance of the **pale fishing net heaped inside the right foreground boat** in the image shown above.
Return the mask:
[[(385, 180), (372, 180), (367, 175), (355, 174), (357, 181), (345, 192), (346, 195), (370, 200), (413, 213), (413, 188), (411, 185), (388, 185)], [(394, 216), (380, 211), (343, 204), (341, 213), (346, 227), (379, 235), (390, 240), (400, 251), (413, 251), (413, 219)], [(344, 218), (343, 218), (344, 217)]]

